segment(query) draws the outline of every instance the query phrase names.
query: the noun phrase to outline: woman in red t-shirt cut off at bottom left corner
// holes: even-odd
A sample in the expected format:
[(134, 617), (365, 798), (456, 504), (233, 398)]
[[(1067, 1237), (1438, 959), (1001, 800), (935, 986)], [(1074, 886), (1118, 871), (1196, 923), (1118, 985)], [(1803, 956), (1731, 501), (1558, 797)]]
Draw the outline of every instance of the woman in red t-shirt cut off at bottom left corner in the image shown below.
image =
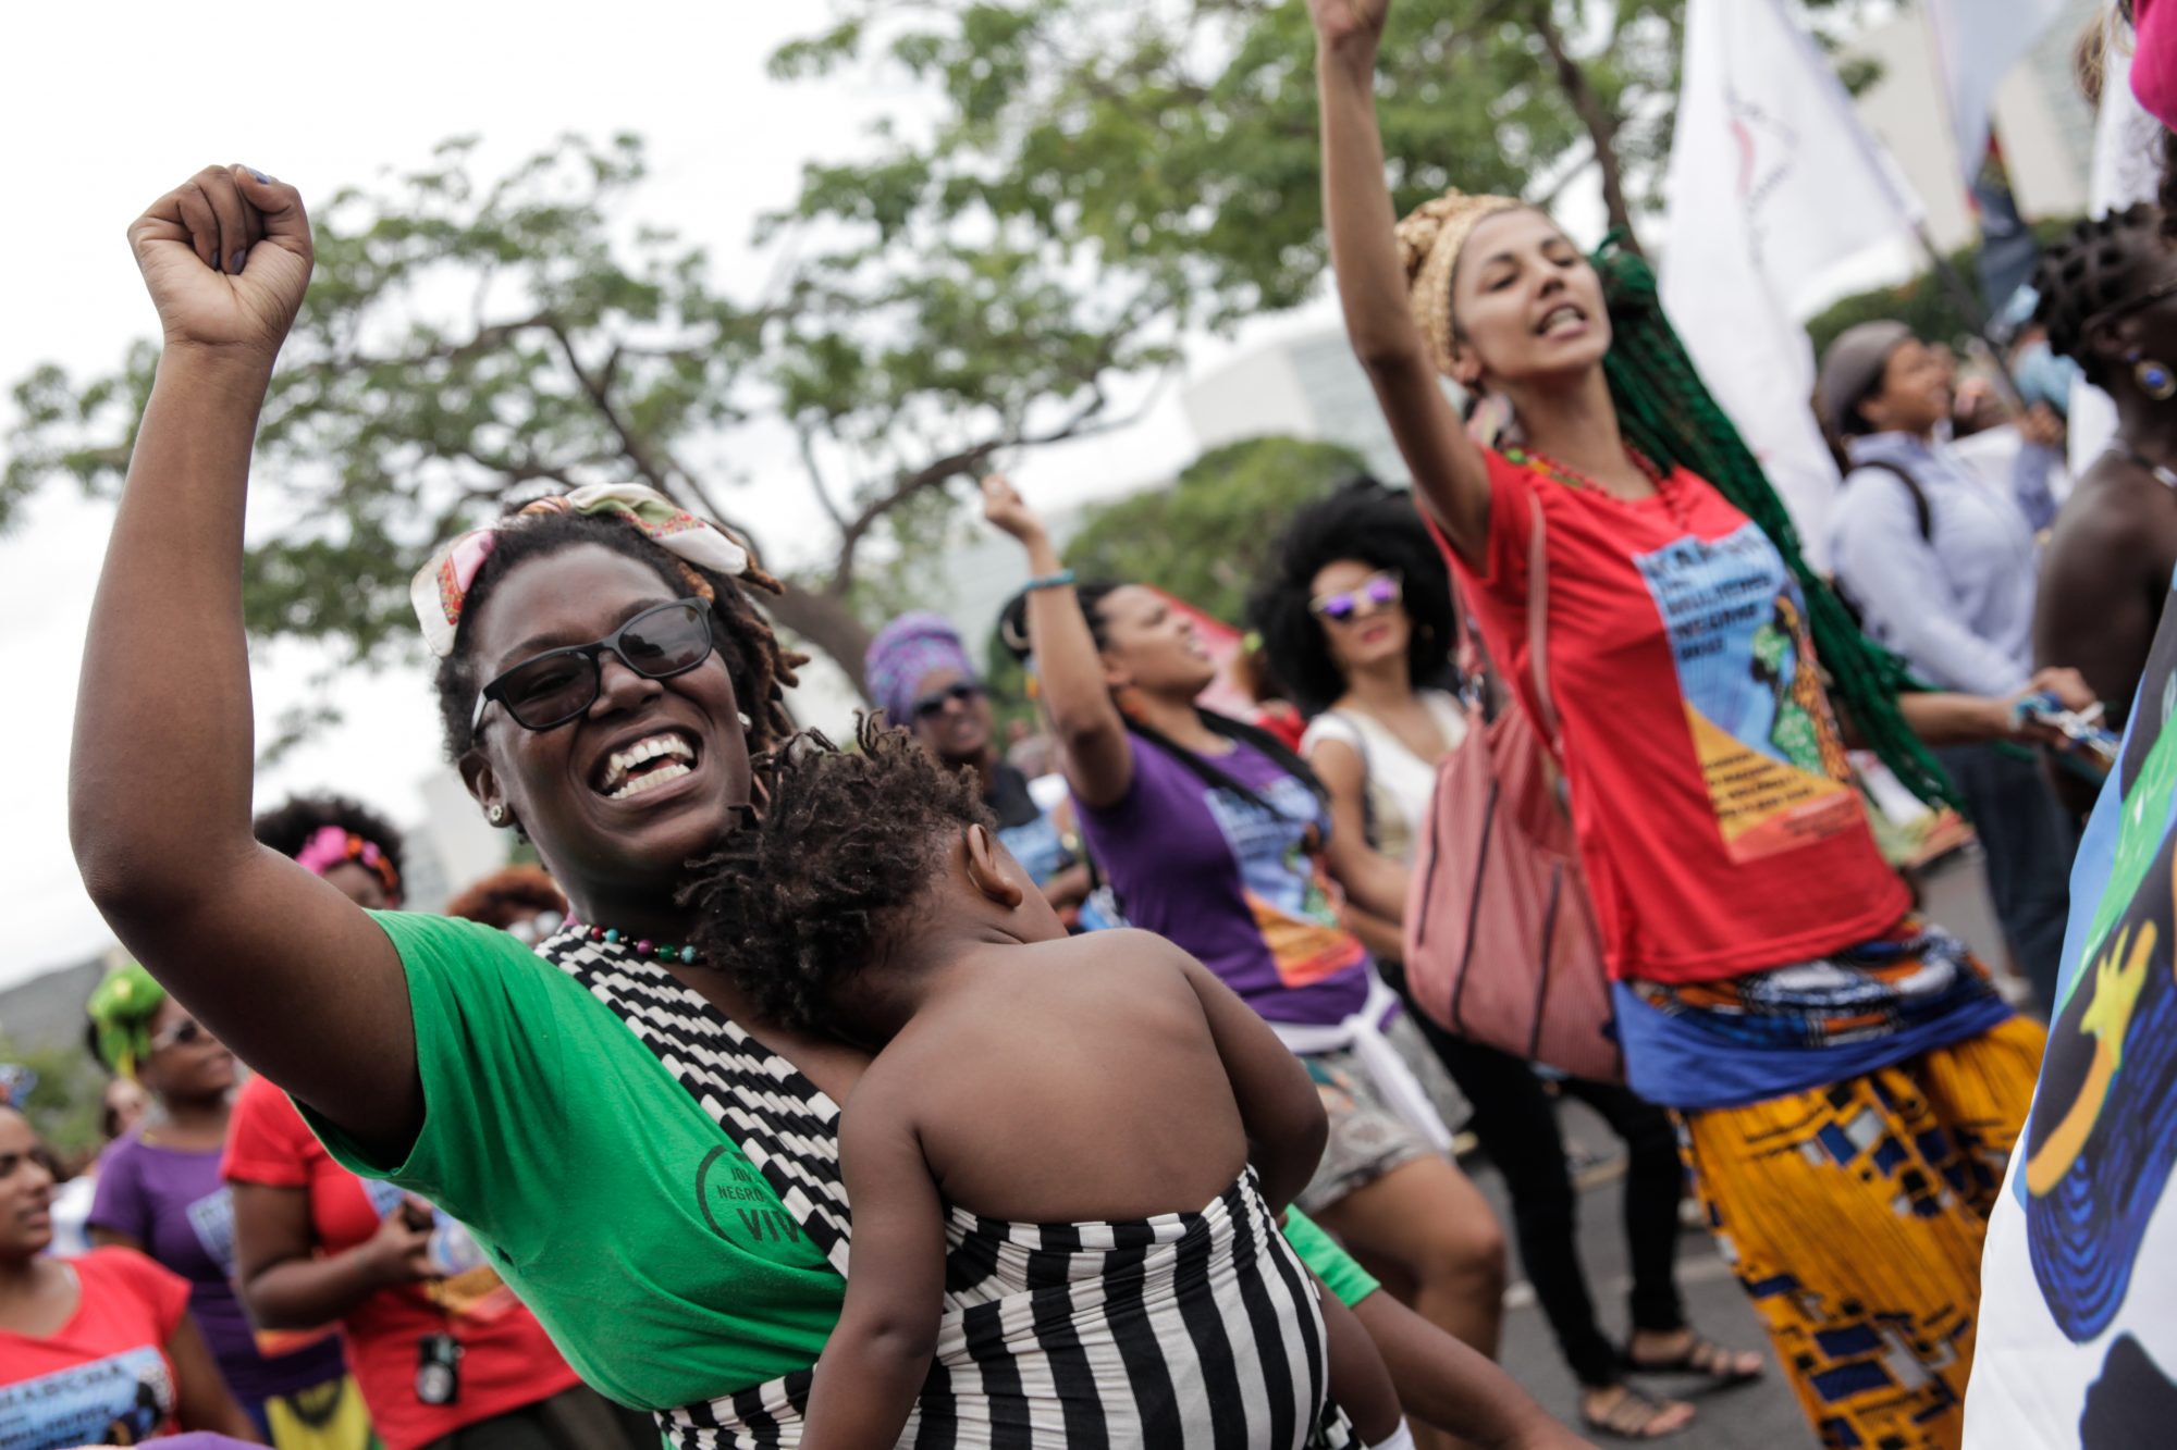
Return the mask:
[(189, 1319), (189, 1282), (124, 1248), (50, 1258), (52, 1158), (0, 1108), (0, 1446), (133, 1446), (257, 1428)]

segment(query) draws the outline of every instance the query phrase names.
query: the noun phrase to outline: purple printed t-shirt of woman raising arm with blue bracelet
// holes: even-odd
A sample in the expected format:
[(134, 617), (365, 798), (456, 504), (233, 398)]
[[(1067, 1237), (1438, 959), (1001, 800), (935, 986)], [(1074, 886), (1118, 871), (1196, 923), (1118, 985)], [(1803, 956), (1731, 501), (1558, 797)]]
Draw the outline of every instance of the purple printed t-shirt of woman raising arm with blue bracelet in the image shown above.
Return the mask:
[(1247, 742), (1210, 760), (1274, 810), (1210, 788), (1134, 736), (1134, 784), (1106, 810), (1080, 806), (1088, 853), (1132, 925), (1215, 971), (1269, 1021), (1330, 1025), (1367, 1002), (1367, 949), (1339, 925), (1308, 827), (1330, 812)]

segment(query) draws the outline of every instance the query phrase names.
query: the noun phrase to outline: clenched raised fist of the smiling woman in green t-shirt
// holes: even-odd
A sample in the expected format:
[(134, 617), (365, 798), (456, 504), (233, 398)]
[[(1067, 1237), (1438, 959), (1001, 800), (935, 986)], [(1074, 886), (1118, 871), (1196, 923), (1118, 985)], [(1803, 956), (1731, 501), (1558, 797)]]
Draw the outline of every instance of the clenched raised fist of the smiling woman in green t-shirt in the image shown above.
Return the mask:
[(309, 290), (303, 196), (246, 165), (209, 165), (128, 226), (165, 344), (279, 353)]

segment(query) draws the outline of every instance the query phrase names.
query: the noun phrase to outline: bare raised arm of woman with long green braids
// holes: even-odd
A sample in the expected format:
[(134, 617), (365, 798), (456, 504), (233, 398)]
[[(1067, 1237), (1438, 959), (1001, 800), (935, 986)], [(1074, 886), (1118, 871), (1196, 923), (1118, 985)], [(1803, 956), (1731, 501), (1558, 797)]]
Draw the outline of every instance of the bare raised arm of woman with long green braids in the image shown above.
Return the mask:
[(1489, 470), (1459, 425), (1413, 314), (1376, 131), (1376, 46), (1391, 0), (1308, 0), (1324, 113), (1324, 224), (1354, 355), (1376, 388), (1415, 492), (1461, 557), (1489, 549)]

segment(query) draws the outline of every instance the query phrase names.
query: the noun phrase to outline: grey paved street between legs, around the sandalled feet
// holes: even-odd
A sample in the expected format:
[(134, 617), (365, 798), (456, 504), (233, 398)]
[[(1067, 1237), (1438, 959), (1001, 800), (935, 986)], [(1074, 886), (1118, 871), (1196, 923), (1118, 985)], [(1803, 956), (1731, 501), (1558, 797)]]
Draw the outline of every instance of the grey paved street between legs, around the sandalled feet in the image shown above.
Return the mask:
[[(1578, 1141), (1598, 1156), (1615, 1158), (1618, 1139), (1602, 1126), (1602, 1119), (1576, 1102), (1563, 1104), (1561, 1113), (1567, 1143)], [(1506, 1232), (1511, 1232), (1511, 1213), (1502, 1180), (1480, 1163), (1476, 1163), (1476, 1173), (1483, 1191), (1498, 1204)], [(1624, 1339), (1631, 1278), (1626, 1274), (1618, 1173), (1607, 1173), (1607, 1182), (1598, 1182), (1581, 1195), (1581, 1254), (1587, 1263), (1587, 1282), (1596, 1295), (1596, 1306), (1602, 1313), (1602, 1332), (1611, 1339)], [(1581, 1406), (1576, 1385), (1565, 1369), (1565, 1361), (1557, 1354), (1557, 1343), (1550, 1339), (1550, 1326), (1541, 1317), (1541, 1308), (1526, 1289), (1517, 1250), (1513, 1252), (1513, 1278), (1517, 1282), (1504, 1315), (1504, 1367), (1550, 1413), (1570, 1426), (1578, 1426)], [(1768, 1352), (1768, 1337), (1761, 1332), (1761, 1324), (1755, 1319), (1737, 1280), (1731, 1278), (1731, 1271), (1718, 1258), (1713, 1241), (1705, 1232), (1689, 1230), (1681, 1239), (1678, 1285), (1685, 1291), (1687, 1313), (1702, 1332), (1733, 1348), (1759, 1348), (1763, 1354)], [(1646, 1385), (1665, 1393), (1685, 1393), (1687, 1387), (1683, 1380), (1663, 1378), (1646, 1380)], [(1774, 1378), (1774, 1372), (1755, 1385), (1692, 1398), (1700, 1406), (1694, 1426), (1683, 1435), (1657, 1443), (1681, 1450), (1811, 1450), (1816, 1443), (1813, 1430), (1807, 1428), (1798, 1404), (1783, 1389), (1783, 1383)], [(1598, 1446), (1631, 1443), (1589, 1437)]]

